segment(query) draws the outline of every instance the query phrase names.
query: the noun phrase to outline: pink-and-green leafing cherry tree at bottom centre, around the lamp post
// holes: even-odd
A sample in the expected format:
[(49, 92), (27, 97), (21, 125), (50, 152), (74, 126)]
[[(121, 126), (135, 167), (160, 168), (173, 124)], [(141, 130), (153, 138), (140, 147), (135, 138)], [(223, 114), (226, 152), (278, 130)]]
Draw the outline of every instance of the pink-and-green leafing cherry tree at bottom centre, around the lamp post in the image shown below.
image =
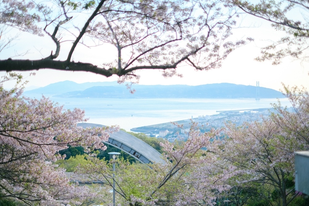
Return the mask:
[[(193, 123), (187, 141), (161, 143), (165, 151), (163, 158), (167, 160), (164, 165), (154, 163), (139, 167), (119, 161), (119, 170), (115, 174), (116, 203), (131, 206), (216, 204), (217, 196), (230, 188), (225, 180), (233, 171), (233, 166), (228, 170), (213, 153), (202, 149), (218, 132), (212, 130), (201, 134), (197, 124)], [(88, 160), (91, 163), (81, 165), (76, 172), (101, 181), (109, 186), (105, 190), (110, 190), (113, 181), (110, 163), (97, 158)]]

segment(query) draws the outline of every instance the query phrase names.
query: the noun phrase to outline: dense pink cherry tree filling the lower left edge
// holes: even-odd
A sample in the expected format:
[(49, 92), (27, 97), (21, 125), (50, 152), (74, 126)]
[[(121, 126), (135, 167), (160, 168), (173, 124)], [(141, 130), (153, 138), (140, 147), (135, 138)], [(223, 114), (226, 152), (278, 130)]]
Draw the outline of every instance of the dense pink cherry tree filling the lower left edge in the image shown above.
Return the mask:
[(83, 204), (94, 193), (70, 183), (51, 161), (62, 158), (57, 152), (68, 145), (87, 152), (104, 149), (102, 141), (117, 128), (78, 127), (87, 120), (84, 111), (64, 110), (45, 97), (23, 97), (18, 85), (3, 88), (6, 81), (21, 78), (11, 73), (0, 81), (0, 197), (28, 205)]

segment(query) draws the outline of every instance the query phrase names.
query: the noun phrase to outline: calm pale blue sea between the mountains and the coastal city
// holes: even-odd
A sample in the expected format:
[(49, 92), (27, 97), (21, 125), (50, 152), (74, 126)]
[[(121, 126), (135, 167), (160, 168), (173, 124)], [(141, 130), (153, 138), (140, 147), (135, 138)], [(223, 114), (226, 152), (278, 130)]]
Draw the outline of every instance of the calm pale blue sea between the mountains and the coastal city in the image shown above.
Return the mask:
[[(66, 109), (84, 109), (88, 123), (119, 125), (131, 128), (170, 121), (185, 120), (193, 116), (214, 115), (220, 110), (269, 108), (277, 99), (101, 99), (55, 98), (51, 100)], [(280, 99), (282, 106), (290, 107), (288, 99)]]

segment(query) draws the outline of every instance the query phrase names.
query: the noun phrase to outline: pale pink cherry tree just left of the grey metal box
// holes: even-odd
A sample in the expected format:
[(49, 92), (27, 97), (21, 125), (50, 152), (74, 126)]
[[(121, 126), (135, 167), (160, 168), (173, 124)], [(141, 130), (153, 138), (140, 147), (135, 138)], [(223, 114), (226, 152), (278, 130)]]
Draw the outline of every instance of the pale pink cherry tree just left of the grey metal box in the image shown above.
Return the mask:
[(236, 166), (237, 175), (230, 179), (234, 185), (255, 187), (270, 205), (290, 204), (298, 195), (294, 191), (294, 151), (303, 144), (272, 118), (240, 127), (228, 124), (224, 131), (227, 138), (215, 141), (210, 150)]

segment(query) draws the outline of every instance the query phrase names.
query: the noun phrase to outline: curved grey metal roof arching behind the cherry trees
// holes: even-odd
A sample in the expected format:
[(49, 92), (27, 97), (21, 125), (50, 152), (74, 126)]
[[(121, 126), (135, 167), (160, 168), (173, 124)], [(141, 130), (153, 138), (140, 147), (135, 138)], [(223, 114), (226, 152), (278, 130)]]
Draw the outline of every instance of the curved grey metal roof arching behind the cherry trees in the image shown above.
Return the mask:
[[(83, 128), (104, 127), (102, 124), (93, 123), (78, 123), (77, 125)], [(127, 132), (121, 130), (119, 132), (114, 132), (110, 134), (108, 141), (104, 143), (121, 149), (142, 163), (152, 164), (156, 162), (166, 164), (164, 157), (157, 150)]]

